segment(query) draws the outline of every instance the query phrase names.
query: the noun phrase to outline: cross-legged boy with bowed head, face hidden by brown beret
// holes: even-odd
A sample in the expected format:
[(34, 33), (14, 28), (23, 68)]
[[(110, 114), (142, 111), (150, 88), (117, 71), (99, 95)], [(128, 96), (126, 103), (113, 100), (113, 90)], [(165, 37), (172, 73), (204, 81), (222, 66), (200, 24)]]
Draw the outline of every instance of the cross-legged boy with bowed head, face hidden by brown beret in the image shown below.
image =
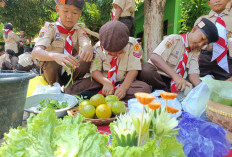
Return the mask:
[[(133, 98), (136, 92), (150, 93), (148, 84), (135, 80), (141, 70), (142, 49), (135, 38), (129, 37), (126, 25), (119, 21), (106, 23), (99, 31), (99, 39), (90, 69), (93, 80), (83, 80), (81, 88), (103, 95), (114, 94), (124, 101)], [(69, 87), (67, 90), (74, 94), (81, 91)]]

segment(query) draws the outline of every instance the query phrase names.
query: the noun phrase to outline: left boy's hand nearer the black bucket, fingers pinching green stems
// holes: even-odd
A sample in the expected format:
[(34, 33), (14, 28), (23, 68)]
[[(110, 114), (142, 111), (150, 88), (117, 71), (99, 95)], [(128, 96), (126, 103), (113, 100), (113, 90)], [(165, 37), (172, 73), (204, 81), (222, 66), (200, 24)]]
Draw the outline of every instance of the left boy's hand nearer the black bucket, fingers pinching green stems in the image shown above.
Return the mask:
[(70, 65), (74, 69), (78, 68), (80, 63), (78, 60), (73, 57), (72, 55), (67, 55), (67, 54), (61, 54), (61, 53), (54, 53), (53, 54), (54, 61), (56, 61), (58, 64), (63, 66), (65, 69), (70, 70), (67, 65)]

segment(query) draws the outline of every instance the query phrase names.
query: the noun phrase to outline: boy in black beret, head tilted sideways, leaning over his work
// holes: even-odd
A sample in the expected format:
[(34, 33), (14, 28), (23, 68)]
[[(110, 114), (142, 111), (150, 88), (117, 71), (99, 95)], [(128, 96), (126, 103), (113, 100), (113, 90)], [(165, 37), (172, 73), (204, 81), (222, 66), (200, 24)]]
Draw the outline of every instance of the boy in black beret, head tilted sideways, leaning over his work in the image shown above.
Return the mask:
[[(190, 33), (166, 37), (153, 51), (149, 63), (143, 64), (139, 80), (151, 85), (153, 90), (167, 90), (170, 87), (172, 92), (198, 85), (200, 72), (197, 50), (217, 40), (217, 28), (203, 18)], [(190, 82), (183, 78), (186, 70)]]

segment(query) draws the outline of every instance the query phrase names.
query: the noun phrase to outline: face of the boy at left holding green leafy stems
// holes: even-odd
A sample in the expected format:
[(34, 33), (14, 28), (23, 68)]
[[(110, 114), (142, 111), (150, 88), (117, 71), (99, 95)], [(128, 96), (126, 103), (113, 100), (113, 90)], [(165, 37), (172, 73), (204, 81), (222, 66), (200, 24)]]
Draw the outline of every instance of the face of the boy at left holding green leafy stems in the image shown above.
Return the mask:
[(60, 16), (62, 24), (68, 30), (73, 28), (81, 15), (81, 10), (74, 5), (59, 5), (56, 7), (56, 11)]

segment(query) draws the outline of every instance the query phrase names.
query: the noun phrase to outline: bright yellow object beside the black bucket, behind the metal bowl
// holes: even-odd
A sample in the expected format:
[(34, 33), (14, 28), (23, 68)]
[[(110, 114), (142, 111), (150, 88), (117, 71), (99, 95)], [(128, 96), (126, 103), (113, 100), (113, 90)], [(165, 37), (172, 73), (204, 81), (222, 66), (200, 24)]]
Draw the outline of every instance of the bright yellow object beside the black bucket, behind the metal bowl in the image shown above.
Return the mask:
[(28, 90), (27, 90), (27, 97), (31, 96), (36, 89), (37, 85), (44, 85), (48, 86), (48, 83), (44, 80), (43, 76), (36, 76), (33, 79), (30, 79)]

